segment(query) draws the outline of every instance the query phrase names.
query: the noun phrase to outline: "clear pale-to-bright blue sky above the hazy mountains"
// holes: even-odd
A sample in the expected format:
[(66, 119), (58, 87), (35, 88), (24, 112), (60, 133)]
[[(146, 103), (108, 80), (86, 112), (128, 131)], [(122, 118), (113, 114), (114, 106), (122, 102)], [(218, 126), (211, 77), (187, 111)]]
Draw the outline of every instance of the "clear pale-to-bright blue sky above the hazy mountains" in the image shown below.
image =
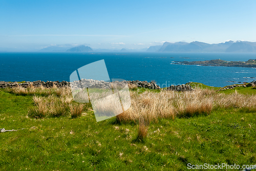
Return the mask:
[[(0, 47), (144, 48), (164, 41), (256, 41), (256, 1), (0, 0)], [(1, 50), (1, 49), (0, 49)]]

